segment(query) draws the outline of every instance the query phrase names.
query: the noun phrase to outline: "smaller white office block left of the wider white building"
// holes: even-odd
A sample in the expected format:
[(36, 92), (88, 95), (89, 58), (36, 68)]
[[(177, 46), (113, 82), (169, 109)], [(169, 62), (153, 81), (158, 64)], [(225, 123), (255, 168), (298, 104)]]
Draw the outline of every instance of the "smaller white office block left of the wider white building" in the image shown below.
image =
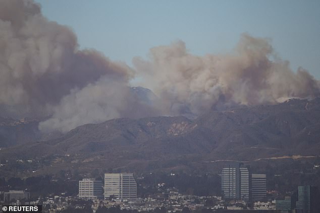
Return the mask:
[(84, 178), (79, 181), (79, 199), (102, 199), (102, 181)]

